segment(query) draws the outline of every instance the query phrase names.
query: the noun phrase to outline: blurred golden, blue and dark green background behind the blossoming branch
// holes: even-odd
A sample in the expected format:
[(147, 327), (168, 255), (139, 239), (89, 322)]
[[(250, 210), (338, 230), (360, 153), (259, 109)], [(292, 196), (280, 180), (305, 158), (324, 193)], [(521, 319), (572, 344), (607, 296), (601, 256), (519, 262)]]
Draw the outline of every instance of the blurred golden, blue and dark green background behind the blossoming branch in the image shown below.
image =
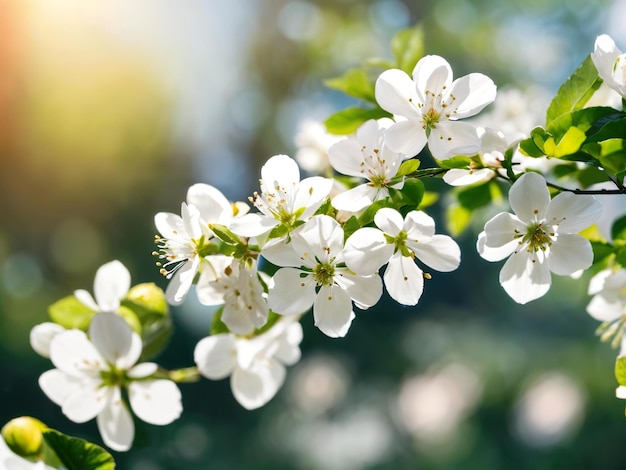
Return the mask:
[[(30, 328), (111, 259), (165, 287), (153, 215), (196, 182), (245, 200), (303, 122), (352, 104), (322, 81), (390, 57), (418, 22), (428, 53), (501, 89), (553, 93), (598, 34), (626, 47), (624, 0), (0, 0), (0, 424), (33, 415), (100, 443), (40, 391), (50, 364)], [(138, 422), (118, 467), (626, 468), (615, 351), (594, 337), (586, 280), (520, 307), (475, 230), (416, 308), (383, 301), (339, 340), (305, 317), (303, 359), (264, 408), (242, 409), (227, 380), (182, 385), (182, 418)], [(191, 365), (208, 332), (193, 297), (173, 310), (167, 367)]]

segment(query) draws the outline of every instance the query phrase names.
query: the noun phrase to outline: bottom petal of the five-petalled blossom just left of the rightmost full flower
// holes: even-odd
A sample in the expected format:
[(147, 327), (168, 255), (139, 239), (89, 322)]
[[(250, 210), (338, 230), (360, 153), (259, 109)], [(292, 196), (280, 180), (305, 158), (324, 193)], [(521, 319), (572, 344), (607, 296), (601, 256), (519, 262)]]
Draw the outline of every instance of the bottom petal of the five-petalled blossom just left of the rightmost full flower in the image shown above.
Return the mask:
[(391, 298), (402, 305), (416, 305), (422, 296), (424, 276), (412, 258), (396, 253), (383, 278)]

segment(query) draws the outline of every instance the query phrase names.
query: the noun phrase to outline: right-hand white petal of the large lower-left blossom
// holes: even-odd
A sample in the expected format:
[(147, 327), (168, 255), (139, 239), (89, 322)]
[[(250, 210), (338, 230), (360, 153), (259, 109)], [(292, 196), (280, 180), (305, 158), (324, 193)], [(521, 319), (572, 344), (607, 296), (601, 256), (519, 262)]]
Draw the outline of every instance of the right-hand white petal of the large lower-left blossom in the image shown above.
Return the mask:
[(150, 424), (169, 424), (183, 411), (180, 390), (171, 380), (131, 382), (128, 399), (137, 417)]

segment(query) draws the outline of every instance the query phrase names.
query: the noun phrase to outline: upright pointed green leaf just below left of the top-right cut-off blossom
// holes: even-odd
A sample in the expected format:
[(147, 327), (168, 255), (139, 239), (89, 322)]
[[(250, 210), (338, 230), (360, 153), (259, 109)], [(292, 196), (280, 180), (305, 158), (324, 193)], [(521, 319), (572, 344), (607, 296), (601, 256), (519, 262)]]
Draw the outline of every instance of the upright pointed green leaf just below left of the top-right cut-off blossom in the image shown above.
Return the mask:
[(602, 84), (598, 71), (588, 55), (574, 73), (561, 85), (548, 107), (546, 127), (566, 113), (581, 109)]

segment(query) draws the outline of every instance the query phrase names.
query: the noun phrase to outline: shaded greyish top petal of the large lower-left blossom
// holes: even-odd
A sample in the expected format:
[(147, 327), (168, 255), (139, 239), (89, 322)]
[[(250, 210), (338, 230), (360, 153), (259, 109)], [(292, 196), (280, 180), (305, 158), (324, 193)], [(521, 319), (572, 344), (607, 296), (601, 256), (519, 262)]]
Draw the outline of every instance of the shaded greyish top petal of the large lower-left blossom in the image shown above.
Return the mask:
[(112, 364), (131, 351), (133, 332), (128, 323), (115, 313), (98, 313), (89, 325), (89, 337), (98, 352)]

